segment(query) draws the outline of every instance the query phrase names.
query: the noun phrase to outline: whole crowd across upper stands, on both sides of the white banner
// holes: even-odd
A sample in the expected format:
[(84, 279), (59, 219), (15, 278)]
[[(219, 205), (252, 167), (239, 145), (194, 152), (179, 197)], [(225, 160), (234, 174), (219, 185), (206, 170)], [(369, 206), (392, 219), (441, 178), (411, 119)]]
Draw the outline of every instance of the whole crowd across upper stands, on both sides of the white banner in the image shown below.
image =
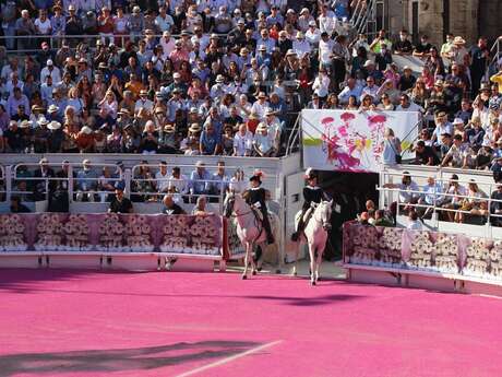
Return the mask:
[[(490, 86), (487, 39), (369, 40), (346, 22), (357, 3), (2, 2), (3, 35), (16, 36), (4, 47), (26, 55), (0, 54), (0, 151), (276, 156), (302, 108), (396, 109), (433, 117), (423, 142), (437, 157), (426, 148), (418, 163), (488, 168), (502, 76)], [(447, 134), (468, 145), (456, 153)]]

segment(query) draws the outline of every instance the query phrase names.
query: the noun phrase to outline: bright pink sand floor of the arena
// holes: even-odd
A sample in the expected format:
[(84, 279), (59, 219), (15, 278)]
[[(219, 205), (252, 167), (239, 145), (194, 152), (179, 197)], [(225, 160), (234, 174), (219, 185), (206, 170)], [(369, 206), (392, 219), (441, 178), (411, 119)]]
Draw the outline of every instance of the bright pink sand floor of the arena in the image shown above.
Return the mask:
[(502, 376), (502, 301), (234, 273), (0, 270), (0, 376)]

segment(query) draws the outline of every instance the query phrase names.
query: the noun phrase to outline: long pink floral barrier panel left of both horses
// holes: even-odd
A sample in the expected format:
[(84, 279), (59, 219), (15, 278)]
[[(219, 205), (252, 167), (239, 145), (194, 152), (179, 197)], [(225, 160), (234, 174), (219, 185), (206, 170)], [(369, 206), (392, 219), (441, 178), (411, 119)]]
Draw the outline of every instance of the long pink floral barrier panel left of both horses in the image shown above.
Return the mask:
[(164, 214), (2, 214), (0, 251), (225, 256), (224, 219)]

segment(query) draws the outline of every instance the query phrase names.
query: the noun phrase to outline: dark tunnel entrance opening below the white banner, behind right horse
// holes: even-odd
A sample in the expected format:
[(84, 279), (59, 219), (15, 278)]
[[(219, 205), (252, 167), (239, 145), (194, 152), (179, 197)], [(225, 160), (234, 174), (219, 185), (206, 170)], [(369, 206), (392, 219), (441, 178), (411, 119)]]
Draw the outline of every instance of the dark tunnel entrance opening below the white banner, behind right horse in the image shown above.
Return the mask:
[(379, 175), (375, 173), (319, 172), (320, 186), (334, 199), (332, 232), (324, 251), (330, 260), (342, 258), (342, 225), (356, 219), (371, 199), (378, 205)]

